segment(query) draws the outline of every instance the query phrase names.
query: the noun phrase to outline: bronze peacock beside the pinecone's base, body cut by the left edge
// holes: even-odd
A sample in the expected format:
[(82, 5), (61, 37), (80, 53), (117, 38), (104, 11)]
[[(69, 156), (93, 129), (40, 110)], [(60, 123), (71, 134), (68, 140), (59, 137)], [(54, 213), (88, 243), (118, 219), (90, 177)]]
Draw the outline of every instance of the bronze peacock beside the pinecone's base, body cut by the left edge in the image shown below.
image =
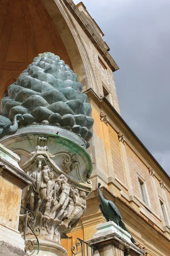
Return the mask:
[(6, 135), (15, 134), (18, 130), (17, 119), (23, 119), (21, 114), (14, 116), (14, 123), (12, 125), (11, 121), (6, 116), (0, 116), (0, 138)]

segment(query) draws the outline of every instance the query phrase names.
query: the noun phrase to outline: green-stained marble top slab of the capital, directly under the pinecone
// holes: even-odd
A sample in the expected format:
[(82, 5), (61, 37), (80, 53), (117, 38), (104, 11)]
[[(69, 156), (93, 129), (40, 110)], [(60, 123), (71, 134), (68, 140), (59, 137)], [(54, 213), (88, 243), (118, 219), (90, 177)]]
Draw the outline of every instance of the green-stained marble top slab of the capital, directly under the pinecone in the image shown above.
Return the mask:
[[(39, 138), (42, 140), (39, 141)], [(43, 140), (43, 138), (47, 139)], [(54, 169), (68, 176), (71, 182), (91, 191), (89, 176), (93, 169), (92, 160), (86, 150), (85, 141), (74, 132), (53, 125), (28, 125), (18, 129), (13, 135), (3, 137), (0, 143), (20, 156), (19, 166), (23, 170), (28, 167), (26, 163), (29, 163), (33, 155), (42, 154), (52, 161)], [(37, 151), (37, 145), (42, 149)], [(71, 156), (78, 158), (75, 160), (78, 165), (77, 169), (65, 173), (61, 166), (61, 159), (63, 156), (67, 157), (70, 152)], [(62, 157), (58, 157), (57, 154), (61, 154)]]

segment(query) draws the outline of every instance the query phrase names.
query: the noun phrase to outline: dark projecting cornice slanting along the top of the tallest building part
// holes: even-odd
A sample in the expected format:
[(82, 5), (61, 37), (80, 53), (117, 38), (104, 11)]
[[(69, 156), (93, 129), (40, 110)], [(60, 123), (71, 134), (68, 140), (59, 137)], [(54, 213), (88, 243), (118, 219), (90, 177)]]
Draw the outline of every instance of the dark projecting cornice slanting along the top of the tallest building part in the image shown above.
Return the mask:
[(72, 0), (63, 0), (65, 5), (68, 7), (70, 12), (74, 15), (75, 19), (79, 23), (79, 25), (84, 30), (85, 34), (90, 38), (91, 42), (94, 44), (96, 49), (100, 52), (102, 57), (105, 59), (106, 63), (111, 67), (111, 70), (114, 72), (116, 70), (119, 70), (118, 65), (113, 60), (111, 55), (108, 53), (108, 45), (103, 41), (102, 37), (100, 38), (94, 28), (88, 23), (88, 21), (85, 19), (85, 17), (82, 15), (82, 13), (79, 11), (77, 6), (74, 4)]

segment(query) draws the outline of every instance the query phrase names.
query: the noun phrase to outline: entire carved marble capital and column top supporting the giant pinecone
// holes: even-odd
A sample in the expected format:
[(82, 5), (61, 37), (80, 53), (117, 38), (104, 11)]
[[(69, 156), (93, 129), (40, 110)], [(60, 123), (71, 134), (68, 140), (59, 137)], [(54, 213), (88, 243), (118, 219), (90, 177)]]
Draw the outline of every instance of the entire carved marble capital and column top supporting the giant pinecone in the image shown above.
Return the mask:
[[(36, 240), (32, 236), (35, 233), (40, 248), (38, 252), (37, 242), (33, 247), (26, 246), (28, 255), (66, 256), (60, 239), (67, 238), (66, 234), (79, 222), (86, 210), (85, 198), (91, 192), (92, 162), (84, 140), (64, 128), (39, 124), (20, 128), (2, 141), (20, 154), (20, 168), (34, 178), (34, 183), (23, 189), (21, 205), (29, 210), (32, 229), (27, 225), (26, 244), (30, 238)], [(22, 208), (22, 236), (26, 216)]]

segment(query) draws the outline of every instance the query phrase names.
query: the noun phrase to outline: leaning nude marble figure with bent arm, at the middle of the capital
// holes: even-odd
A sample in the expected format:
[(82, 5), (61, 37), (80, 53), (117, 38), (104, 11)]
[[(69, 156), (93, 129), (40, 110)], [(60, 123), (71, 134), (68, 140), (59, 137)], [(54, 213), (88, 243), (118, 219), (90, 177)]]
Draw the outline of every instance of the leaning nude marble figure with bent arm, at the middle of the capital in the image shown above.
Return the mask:
[(57, 204), (54, 204), (54, 207), (51, 209), (51, 215), (53, 215), (53, 213), (57, 211), (59, 207), (61, 207), (61, 209), (57, 213), (57, 218), (59, 218), (60, 216), (62, 216), (65, 208), (68, 205), (69, 193), (71, 188), (70, 188), (70, 185), (67, 183), (68, 178), (65, 177), (65, 175), (63, 174), (59, 175), (56, 181), (59, 181), (59, 183), (61, 183), (62, 192), (59, 195), (59, 202)]

